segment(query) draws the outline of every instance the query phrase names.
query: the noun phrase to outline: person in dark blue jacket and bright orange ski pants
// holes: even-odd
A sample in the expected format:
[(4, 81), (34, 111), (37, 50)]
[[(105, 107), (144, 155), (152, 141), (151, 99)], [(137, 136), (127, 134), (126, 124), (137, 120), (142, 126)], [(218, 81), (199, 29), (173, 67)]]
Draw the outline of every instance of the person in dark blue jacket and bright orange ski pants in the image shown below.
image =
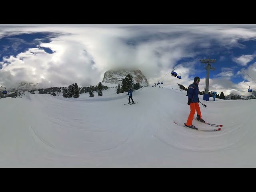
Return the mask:
[(190, 106), (190, 114), (188, 116), (188, 120), (187, 120), (187, 123), (185, 124), (185, 126), (188, 126), (190, 128), (196, 128), (194, 125), (192, 125), (195, 112), (197, 114), (196, 119), (198, 121), (205, 122), (202, 119), (202, 114), (201, 114), (200, 107), (199, 107), (199, 97), (198, 97), (199, 82), (200, 82), (200, 78), (195, 77), (194, 83), (192, 83), (190, 86), (188, 86), (188, 105)]

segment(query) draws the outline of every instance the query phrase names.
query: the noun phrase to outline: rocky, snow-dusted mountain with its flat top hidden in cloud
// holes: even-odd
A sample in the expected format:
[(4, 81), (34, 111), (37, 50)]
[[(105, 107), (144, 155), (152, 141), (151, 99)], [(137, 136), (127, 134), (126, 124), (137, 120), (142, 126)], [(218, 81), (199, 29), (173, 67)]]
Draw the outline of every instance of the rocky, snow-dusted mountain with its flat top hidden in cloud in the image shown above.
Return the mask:
[(122, 79), (128, 74), (132, 76), (134, 84), (139, 83), (140, 86), (148, 86), (148, 80), (141, 70), (108, 70), (104, 73), (102, 83), (120, 84), (122, 85)]

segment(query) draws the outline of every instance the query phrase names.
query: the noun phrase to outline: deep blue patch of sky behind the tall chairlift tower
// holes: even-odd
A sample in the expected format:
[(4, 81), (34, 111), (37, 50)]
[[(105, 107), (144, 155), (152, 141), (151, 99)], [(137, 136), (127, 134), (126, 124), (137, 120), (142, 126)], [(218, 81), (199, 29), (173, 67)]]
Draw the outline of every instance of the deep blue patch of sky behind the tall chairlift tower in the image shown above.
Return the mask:
[[(214, 44), (211, 46), (210, 50), (197, 49), (198, 52), (202, 53), (198, 57), (195, 57), (198, 60), (195, 66), (195, 71), (198, 76), (202, 78), (206, 77), (206, 70), (204, 69), (205, 65), (200, 62), (200, 59), (207, 59), (208, 56), (210, 59), (216, 60), (216, 62), (212, 64), (212, 66), (215, 67), (215, 70), (210, 70), (210, 78), (218, 78), (218, 75), (222, 72), (226, 72), (227, 74), (224, 74), (226, 76), (229, 76), (231, 71), (234, 74), (237, 74), (238, 72), (242, 72), (241, 70), (243, 70), (246, 66), (254, 64), (256, 62), (254, 55), (256, 50), (256, 41), (250, 40), (239, 43), (240, 46), (243, 46), (230, 48), (228, 50), (224, 47), (220, 48), (218, 45)], [(180, 65), (184, 66), (184, 62), (188, 62), (189, 60), (193, 60), (195, 58), (181, 59), (177, 62), (174, 68), (177, 68)], [(179, 70), (177, 69), (175, 71), (178, 72)], [(242, 73), (245, 75), (244, 72)], [(249, 71), (249, 75), (254, 73), (255, 71)], [(233, 83), (239, 83), (242, 82), (244, 78), (242, 75), (237, 75), (232, 77), (230, 80)]]

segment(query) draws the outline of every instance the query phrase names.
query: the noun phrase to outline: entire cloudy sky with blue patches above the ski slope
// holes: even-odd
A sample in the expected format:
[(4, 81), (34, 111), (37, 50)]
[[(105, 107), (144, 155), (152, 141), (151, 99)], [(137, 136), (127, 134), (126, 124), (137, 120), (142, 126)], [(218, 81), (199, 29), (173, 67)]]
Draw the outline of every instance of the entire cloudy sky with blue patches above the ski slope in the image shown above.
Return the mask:
[[(0, 83), (45, 88), (96, 85), (114, 68), (140, 69), (150, 86), (183, 84), (195, 76), (205, 89), (200, 59), (216, 59), (209, 91), (248, 96), (256, 90), (256, 25), (252, 24), (0, 24)], [(171, 76), (172, 69), (182, 79)]]

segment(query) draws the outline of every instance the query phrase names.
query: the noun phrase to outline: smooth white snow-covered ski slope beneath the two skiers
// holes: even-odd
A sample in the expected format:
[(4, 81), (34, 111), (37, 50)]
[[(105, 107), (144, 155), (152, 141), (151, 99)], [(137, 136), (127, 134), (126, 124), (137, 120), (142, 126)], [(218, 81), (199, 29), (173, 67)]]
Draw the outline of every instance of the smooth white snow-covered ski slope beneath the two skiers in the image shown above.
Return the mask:
[(0, 99), (0, 167), (256, 167), (256, 100), (200, 95), (202, 118), (223, 124), (200, 132), (173, 123), (188, 118), (184, 91), (144, 87), (130, 106), (126, 93), (115, 92)]

